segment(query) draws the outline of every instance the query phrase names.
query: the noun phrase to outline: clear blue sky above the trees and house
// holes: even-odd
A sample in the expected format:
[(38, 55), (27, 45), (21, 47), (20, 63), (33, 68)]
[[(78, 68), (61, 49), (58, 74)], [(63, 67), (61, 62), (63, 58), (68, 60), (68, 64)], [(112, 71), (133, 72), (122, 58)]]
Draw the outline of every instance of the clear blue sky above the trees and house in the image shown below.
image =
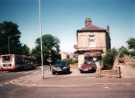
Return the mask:
[[(76, 30), (91, 17), (97, 26), (110, 26), (112, 47), (126, 46), (135, 37), (135, 0), (41, 0), (43, 34), (61, 41), (61, 50), (73, 52)], [(21, 41), (30, 48), (40, 36), (38, 0), (0, 0), (0, 22), (13, 21), (22, 32)]]

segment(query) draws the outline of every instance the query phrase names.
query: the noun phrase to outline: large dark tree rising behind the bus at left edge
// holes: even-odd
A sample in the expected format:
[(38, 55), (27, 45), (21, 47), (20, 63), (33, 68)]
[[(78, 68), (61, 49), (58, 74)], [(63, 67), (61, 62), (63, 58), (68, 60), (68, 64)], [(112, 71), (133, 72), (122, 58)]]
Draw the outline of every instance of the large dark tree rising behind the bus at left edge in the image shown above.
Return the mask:
[(4, 21), (0, 23), (0, 51), (2, 54), (19, 53), (21, 32), (18, 25), (13, 22)]

